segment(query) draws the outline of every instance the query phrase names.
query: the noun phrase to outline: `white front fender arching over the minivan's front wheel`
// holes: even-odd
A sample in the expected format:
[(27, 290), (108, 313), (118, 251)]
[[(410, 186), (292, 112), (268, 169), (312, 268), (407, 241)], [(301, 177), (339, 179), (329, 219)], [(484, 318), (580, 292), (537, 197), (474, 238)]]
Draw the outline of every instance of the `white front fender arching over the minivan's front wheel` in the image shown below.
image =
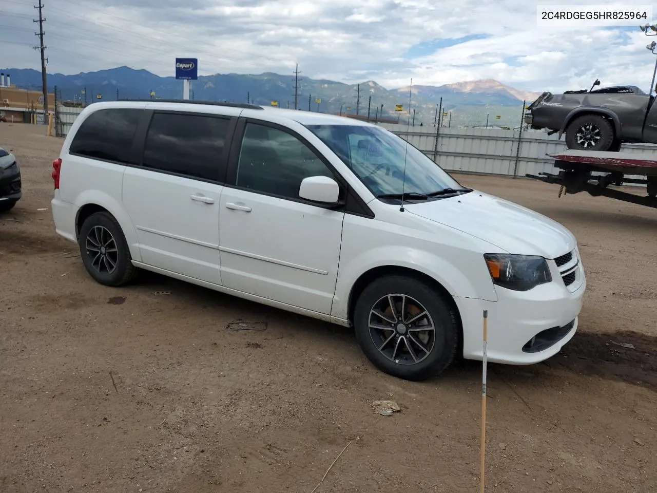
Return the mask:
[(341, 258), (331, 316), (347, 319), (353, 285), (367, 271), (381, 267), (419, 271), (435, 279), (451, 296), (497, 301), (497, 293), (484, 257), (480, 258), (478, 254), (472, 252), (470, 258), (465, 256), (461, 258), (461, 262), (456, 264), (426, 250), (398, 245), (382, 245), (363, 250), (361, 254), (349, 260)]

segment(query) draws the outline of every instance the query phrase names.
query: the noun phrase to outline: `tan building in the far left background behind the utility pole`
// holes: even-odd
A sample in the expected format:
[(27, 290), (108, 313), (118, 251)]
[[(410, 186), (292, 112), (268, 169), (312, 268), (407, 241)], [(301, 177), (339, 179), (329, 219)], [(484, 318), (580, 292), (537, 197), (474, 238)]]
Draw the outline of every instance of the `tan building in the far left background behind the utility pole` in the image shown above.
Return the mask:
[[(55, 94), (48, 93), (48, 110), (55, 108)], [(0, 74), (0, 116), (7, 122), (30, 123), (33, 115), (43, 121), (43, 93), (37, 89), (17, 89), (9, 74)]]

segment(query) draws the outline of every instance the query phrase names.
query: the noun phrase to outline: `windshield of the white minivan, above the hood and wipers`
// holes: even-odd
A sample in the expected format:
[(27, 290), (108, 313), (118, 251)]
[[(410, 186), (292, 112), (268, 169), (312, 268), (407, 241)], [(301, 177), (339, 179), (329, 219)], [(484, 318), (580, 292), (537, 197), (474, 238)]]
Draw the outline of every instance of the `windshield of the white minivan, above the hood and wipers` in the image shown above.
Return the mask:
[[(461, 185), (401, 137), (380, 127), (309, 125), (374, 195), (432, 193)], [(406, 177), (404, 179), (404, 165)], [(405, 183), (404, 183), (405, 181)], [(413, 200), (413, 197), (408, 197)]]

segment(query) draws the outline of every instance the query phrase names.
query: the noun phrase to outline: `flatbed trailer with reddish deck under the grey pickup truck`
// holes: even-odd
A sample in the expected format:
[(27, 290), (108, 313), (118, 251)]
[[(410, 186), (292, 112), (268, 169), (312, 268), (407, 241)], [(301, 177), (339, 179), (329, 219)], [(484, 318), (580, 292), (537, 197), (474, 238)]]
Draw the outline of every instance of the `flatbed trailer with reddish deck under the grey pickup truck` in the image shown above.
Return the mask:
[[(526, 177), (561, 185), (564, 193), (588, 192), (593, 197), (610, 197), (633, 204), (657, 208), (657, 154), (621, 153), (613, 151), (566, 150), (547, 154), (555, 159), (558, 174), (526, 174)], [(597, 175), (593, 175), (597, 173)], [(645, 176), (630, 178), (627, 176)], [(636, 195), (616, 189), (625, 183), (646, 185), (646, 195)]]

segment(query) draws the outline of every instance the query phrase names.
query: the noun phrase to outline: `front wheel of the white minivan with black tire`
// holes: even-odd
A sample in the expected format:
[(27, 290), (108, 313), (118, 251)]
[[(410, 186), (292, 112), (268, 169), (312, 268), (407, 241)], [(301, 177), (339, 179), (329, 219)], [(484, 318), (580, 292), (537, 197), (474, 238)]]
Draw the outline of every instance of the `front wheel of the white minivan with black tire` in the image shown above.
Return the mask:
[[(392, 303), (396, 305), (397, 311), (401, 308), (401, 296), (407, 297), (406, 311), (410, 314), (405, 319), (412, 321), (411, 325), (399, 324), (399, 317), (390, 317), (390, 311), (382, 308), (386, 301), (389, 301), (389, 298), (386, 300), (388, 295), (400, 295), (398, 299), (394, 298)], [(391, 307), (392, 304), (388, 302), (388, 307)], [(415, 311), (411, 310), (413, 306)], [(388, 315), (387, 321), (373, 314), (377, 307), (379, 312), (384, 310), (384, 314)], [(426, 311), (430, 319), (423, 316), (413, 321), (413, 316), (417, 317), (419, 313), (418, 310)], [(397, 322), (392, 323), (392, 318), (397, 318)], [(385, 323), (386, 328), (371, 329), (371, 320), (374, 323), (376, 320), (380, 320), (382, 327)], [(431, 335), (432, 331), (421, 331), (421, 327), (425, 325), (422, 323), (423, 321), (431, 321), (434, 326), (433, 337), (428, 337), (426, 340), (422, 337), (426, 335), (426, 332)], [(388, 325), (390, 325), (390, 329), (387, 328)], [(399, 331), (393, 329), (399, 325), (401, 325)], [(440, 375), (453, 362), (456, 355), (459, 340), (457, 317), (443, 298), (442, 293), (411, 277), (390, 275), (373, 281), (365, 288), (356, 302), (353, 326), (356, 339), (367, 359), (384, 373), (401, 379), (420, 381)], [(388, 342), (382, 352), (379, 347), (386, 340), (394, 344), (393, 347), (390, 347), (390, 342)], [(396, 347), (401, 348), (402, 351), (395, 354), (392, 351), (397, 340), (399, 342)], [(406, 343), (409, 345), (405, 345)], [(409, 346), (414, 354), (411, 354)], [(421, 352), (420, 348), (424, 352)], [(387, 352), (388, 356), (384, 352)], [(393, 361), (390, 356), (393, 358), (396, 356), (396, 361)]]

